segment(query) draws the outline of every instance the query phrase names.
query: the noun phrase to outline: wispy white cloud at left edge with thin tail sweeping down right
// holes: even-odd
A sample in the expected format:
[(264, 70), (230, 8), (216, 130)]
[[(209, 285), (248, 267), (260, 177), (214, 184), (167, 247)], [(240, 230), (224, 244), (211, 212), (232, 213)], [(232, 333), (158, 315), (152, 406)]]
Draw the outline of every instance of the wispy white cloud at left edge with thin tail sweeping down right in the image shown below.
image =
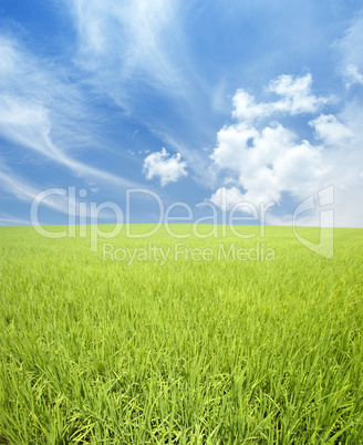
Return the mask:
[[(122, 187), (135, 183), (87, 165), (69, 154), (93, 139), (92, 112), (81, 90), (58, 69), (50, 70), (11, 38), (0, 35), (0, 134), (18, 146), (70, 168)], [(58, 139), (58, 141), (55, 141)]]

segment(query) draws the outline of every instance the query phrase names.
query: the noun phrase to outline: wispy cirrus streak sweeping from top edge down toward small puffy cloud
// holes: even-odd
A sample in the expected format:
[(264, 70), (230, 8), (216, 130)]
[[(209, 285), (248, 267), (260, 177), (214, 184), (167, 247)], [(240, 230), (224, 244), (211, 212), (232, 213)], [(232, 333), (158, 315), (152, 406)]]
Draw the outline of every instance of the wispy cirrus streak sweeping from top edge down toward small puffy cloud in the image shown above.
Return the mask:
[(180, 152), (196, 178), (201, 177), (203, 163), (194, 162), (203, 157), (197, 153), (199, 144), (194, 141), (195, 148), (190, 149), (190, 139), (201, 142), (215, 128), (200, 106), (200, 97), (210, 103), (212, 92), (191, 62), (186, 43), (185, 17), (191, 3), (66, 3), (77, 31), (76, 63), (86, 73), (87, 82), (128, 115), (136, 116), (169, 149)]

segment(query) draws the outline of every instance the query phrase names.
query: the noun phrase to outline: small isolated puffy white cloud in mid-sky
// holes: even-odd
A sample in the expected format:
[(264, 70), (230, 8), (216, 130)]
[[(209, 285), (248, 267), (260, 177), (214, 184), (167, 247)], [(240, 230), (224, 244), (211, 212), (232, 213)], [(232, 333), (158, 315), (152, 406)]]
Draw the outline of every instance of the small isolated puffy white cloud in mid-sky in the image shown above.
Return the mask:
[(159, 177), (162, 187), (168, 183), (175, 183), (180, 177), (187, 176), (187, 163), (182, 161), (180, 154), (169, 156), (165, 148), (162, 152), (152, 153), (144, 161), (144, 173), (147, 179)]

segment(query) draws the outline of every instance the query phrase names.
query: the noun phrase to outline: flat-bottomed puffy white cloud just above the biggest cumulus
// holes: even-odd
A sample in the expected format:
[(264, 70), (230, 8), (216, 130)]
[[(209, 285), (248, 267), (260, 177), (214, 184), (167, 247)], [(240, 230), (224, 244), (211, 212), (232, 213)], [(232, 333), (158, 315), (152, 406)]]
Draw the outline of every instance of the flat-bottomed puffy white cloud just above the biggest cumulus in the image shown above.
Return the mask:
[(253, 96), (243, 90), (238, 90), (232, 100), (235, 106), (232, 115), (239, 121), (253, 121), (274, 114), (294, 116), (302, 113), (315, 113), (329, 100), (312, 94), (311, 85), (310, 73), (295, 79), (292, 75), (280, 75), (270, 82), (267, 92), (276, 93), (282, 99), (266, 103), (256, 103)]

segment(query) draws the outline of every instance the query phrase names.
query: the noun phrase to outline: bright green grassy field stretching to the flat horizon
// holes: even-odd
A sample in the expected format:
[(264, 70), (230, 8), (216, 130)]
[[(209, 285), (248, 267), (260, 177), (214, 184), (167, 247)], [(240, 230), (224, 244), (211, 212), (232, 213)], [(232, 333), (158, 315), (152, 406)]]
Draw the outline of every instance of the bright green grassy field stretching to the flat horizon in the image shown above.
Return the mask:
[[(333, 259), (279, 227), (123, 231), (97, 252), (28, 227), (0, 237), (0, 443), (363, 443), (363, 230), (335, 229)], [(113, 261), (104, 242), (141, 250)], [(274, 258), (175, 258), (175, 242)], [(163, 266), (153, 246), (172, 249)]]

